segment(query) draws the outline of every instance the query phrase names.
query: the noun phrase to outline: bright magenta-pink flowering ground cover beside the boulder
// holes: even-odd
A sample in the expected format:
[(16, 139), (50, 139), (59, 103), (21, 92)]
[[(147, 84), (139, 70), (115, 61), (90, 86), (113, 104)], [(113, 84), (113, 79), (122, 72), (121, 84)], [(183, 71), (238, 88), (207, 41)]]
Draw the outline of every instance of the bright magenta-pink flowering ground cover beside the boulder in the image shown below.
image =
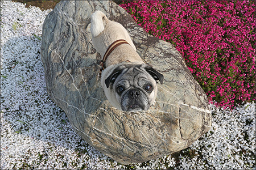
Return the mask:
[(255, 100), (255, 1), (129, 1), (148, 33), (171, 42), (216, 105)]

